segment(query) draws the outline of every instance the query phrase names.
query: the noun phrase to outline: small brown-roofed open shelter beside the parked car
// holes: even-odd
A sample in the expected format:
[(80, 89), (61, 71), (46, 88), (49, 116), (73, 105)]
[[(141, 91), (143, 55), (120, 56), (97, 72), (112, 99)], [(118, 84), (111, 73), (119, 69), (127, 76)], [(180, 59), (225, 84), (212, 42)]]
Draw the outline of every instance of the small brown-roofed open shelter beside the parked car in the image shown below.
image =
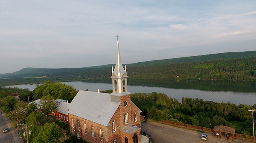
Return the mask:
[(235, 137), (235, 128), (231, 128), (229, 126), (214, 126), (214, 134), (219, 135), (220, 137), (222, 135), (226, 136), (227, 138), (232, 137), (234, 139)]

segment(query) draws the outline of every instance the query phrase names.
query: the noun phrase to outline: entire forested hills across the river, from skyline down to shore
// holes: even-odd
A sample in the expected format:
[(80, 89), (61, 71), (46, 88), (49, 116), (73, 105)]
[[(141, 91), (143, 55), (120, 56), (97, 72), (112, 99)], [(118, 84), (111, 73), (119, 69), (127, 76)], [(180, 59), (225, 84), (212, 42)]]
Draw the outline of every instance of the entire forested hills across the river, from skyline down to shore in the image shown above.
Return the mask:
[[(25, 68), (13, 73), (0, 74), (0, 80), (23, 79), (29, 82), (28, 80), (33, 79), (35, 82), (109, 79), (111, 66), (70, 69)], [(256, 80), (256, 51), (154, 60), (126, 66), (131, 79)]]

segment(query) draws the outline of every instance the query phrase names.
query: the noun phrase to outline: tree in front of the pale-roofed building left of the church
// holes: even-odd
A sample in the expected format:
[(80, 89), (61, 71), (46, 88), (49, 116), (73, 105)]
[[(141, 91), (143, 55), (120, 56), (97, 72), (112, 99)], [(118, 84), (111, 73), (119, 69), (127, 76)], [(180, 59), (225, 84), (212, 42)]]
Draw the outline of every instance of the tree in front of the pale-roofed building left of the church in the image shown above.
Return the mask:
[(47, 95), (41, 98), (42, 111), (48, 116), (50, 112), (53, 112), (57, 108), (57, 102), (54, 101), (54, 97)]

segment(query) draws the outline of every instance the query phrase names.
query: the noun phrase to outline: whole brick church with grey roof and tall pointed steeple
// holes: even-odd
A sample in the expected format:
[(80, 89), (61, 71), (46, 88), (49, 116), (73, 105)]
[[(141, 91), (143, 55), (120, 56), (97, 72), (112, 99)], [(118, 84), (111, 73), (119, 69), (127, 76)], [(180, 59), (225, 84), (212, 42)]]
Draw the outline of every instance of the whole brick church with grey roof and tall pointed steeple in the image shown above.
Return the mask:
[(141, 110), (131, 102), (117, 36), (111, 94), (80, 90), (67, 107), (70, 132), (89, 143), (148, 143), (140, 132)]

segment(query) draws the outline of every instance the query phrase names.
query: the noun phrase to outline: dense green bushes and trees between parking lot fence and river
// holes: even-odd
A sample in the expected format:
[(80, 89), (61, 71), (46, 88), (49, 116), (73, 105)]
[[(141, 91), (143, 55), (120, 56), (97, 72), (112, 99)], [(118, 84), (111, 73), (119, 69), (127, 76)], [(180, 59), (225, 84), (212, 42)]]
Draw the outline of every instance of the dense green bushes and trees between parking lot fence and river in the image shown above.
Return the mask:
[(131, 94), (131, 100), (142, 110), (142, 115), (153, 120), (172, 120), (212, 129), (224, 125), (236, 128), (236, 133), (252, 135), (252, 113), (248, 109), (256, 109), (256, 104), (237, 106), (189, 97), (183, 97), (179, 103), (156, 92)]

